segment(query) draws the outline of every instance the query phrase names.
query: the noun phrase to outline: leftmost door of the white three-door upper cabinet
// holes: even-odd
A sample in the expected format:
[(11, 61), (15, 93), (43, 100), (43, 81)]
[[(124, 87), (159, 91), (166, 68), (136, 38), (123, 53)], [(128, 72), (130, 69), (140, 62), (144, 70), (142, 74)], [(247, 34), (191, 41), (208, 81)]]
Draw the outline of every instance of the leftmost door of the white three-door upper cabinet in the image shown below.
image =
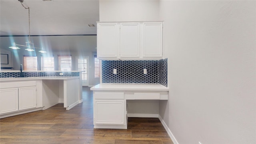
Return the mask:
[(98, 58), (117, 58), (119, 38), (119, 27), (117, 23), (98, 23), (97, 26)]

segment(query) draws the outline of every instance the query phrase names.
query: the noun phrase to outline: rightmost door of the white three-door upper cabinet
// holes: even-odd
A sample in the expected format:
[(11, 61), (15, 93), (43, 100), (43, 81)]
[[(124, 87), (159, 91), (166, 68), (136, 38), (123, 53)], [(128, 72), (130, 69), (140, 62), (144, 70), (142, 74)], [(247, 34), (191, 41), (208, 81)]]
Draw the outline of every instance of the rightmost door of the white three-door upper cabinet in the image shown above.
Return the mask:
[(162, 57), (163, 23), (143, 23), (143, 57)]

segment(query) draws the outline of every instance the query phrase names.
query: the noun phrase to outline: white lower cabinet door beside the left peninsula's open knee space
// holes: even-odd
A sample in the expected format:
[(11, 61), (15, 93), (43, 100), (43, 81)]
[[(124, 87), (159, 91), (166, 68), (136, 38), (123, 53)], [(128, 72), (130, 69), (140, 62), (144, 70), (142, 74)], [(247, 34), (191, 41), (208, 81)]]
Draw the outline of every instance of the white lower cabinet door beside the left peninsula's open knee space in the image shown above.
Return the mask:
[(19, 110), (36, 108), (36, 87), (19, 88)]

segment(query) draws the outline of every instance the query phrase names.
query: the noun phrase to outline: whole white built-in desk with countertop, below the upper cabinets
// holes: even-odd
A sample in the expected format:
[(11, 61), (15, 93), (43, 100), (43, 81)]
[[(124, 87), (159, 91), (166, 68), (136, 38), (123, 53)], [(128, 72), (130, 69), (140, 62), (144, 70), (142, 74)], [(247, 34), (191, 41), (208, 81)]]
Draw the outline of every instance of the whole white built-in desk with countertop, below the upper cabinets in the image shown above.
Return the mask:
[(98, 84), (93, 90), (94, 128), (127, 129), (126, 100), (168, 100), (161, 84)]

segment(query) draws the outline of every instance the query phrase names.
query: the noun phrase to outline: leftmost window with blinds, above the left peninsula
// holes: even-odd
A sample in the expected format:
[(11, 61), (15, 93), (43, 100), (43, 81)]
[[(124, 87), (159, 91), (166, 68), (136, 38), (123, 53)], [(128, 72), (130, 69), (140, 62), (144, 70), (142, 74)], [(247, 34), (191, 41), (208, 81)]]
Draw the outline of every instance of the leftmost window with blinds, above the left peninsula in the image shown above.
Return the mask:
[(37, 70), (36, 56), (23, 56), (24, 70)]

